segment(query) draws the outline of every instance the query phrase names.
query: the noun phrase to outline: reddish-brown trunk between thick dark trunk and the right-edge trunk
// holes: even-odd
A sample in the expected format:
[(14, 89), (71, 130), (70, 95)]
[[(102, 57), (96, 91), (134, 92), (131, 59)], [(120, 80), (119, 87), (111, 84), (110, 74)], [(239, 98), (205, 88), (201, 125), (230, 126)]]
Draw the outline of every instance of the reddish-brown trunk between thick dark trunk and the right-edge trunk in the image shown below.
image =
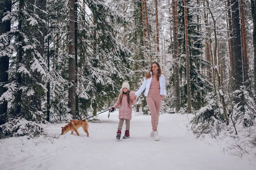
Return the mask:
[[(244, 4), (243, 0), (240, 0), (240, 12), (241, 12), (241, 43), (242, 43), (242, 56), (243, 56), (243, 75), (244, 83), (248, 80), (248, 58), (247, 58), (247, 47), (246, 47), (246, 32), (244, 23)], [(245, 83), (245, 84), (248, 84)]]

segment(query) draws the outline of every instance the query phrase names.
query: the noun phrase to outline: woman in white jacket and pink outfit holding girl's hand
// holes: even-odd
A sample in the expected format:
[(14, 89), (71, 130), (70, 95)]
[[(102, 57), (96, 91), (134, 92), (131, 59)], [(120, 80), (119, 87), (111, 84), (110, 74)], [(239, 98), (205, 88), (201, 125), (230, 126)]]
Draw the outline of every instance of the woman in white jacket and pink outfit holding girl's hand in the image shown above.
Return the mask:
[(154, 136), (154, 140), (159, 141), (160, 139), (158, 136), (157, 125), (162, 99), (166, 97), (165, 77), (162, 74), (159, 63), (151, 63), (151, 68), (145, 75), (143, 84), (140, 86), (140, 89), (138, 89), (135, 95), (132, 96), (132, 98), (137, 98), (137, 96), (139, 96), (144, 89), (144, 95), (146, 96), (148, 108), (151, 112), (152, 131), (150, 136)]

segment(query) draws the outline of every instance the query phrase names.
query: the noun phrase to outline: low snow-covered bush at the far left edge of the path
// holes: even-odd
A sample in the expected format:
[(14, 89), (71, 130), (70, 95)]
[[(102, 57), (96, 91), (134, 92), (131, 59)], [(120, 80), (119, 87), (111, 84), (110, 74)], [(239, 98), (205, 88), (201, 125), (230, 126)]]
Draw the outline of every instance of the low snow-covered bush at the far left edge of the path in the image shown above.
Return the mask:
[(0, 138), (18, 137), (28, 135), (38, 137), (44, 134), (44, 129), (35, 121), (27, 121), (25, 118), (12, 118), (0, 126)]

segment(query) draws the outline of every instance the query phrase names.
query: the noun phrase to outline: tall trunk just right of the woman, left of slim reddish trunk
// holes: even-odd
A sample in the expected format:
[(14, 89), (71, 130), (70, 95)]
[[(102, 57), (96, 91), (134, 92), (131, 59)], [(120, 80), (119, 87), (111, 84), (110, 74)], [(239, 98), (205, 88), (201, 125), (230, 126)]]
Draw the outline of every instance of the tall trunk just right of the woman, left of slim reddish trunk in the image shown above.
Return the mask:
[(175, 86), (175, 111), (180, 111), (180, 77), (179, 77), (179, 57), (178, 57), (178, 32), (177, 32), (177, 3), (172, 0), (172, 29), (173, 29), (173, 56), (174, 56), (174, 86)]

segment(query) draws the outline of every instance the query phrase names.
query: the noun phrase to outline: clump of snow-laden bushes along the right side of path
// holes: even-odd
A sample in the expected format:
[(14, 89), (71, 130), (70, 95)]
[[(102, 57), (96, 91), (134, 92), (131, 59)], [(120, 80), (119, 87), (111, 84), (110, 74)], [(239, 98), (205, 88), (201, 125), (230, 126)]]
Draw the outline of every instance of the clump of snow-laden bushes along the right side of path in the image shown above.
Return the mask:
[[(223, 108), (218, 95), (208, 93), (207, 105), (190, 121), (193, 133), (197, 137), (209, 136), (223, 142), (223, 149), (236, 156), (256, 153), (256, 102), (250, 94), (241, 86), (229, 98), (224, 95), (227, 105)], [(223, 109), (227, 110), (228, 125)]]

